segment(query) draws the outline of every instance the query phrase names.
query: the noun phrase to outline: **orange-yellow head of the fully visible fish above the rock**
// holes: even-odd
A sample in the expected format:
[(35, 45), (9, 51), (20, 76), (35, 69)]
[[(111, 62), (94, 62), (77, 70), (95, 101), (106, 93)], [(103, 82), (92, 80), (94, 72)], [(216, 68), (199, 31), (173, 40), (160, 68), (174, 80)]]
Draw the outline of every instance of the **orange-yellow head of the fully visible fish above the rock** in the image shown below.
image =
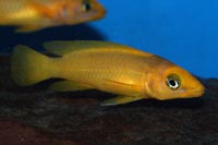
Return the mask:
[(148, 83), (149, 96), (159, 100), (201, 97), (205, 87), (184, 69), (170, 64), (156, 69)]

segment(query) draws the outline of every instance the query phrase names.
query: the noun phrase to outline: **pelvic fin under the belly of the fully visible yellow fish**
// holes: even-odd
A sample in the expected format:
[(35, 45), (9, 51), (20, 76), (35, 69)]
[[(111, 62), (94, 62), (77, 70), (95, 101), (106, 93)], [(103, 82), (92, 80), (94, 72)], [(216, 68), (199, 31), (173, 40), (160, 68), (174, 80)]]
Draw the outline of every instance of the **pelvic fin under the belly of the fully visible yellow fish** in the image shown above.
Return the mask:
[(118, 96), (116, 98), (106, 99), (100, 105), (101, 106), (116, 106), (116, 105), (123, 105), (128, 102), (132, 102), (135, 100), (144, 99), (141, 96)]

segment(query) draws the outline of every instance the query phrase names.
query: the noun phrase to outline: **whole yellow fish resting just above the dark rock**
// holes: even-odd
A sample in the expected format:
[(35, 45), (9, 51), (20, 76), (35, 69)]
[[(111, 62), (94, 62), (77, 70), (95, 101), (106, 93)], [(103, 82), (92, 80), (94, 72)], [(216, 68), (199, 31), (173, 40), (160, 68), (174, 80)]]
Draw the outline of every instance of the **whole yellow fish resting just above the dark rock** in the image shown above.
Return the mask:
[(120, 105), (144, 98), (159, 100), (199, 97), (204, 86), (187, 71), (158, 56), (134, 48), (94, 40), (50, 41), (48, 57), (26, 46), (12, 53), (11, 76), (21, 86), (48, 78), (58, 92), (99, 89), (118, 97), (101, 105)]

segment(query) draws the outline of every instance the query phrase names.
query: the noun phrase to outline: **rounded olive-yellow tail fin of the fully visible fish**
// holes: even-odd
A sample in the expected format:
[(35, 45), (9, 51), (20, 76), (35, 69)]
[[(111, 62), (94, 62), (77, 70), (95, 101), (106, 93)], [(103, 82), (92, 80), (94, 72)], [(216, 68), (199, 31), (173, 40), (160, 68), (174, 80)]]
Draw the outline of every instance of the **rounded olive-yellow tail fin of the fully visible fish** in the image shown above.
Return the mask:
[(11, 77), (20, 86), (28, 86), (51, 77), (50, 58), (19, 45), (11, 57)]

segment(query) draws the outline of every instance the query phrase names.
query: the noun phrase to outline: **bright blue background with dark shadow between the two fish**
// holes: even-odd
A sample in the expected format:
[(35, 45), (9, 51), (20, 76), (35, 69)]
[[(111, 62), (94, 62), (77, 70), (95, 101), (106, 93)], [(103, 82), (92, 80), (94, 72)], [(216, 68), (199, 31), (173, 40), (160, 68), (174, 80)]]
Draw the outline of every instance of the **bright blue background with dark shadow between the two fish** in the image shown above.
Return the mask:
[(104, 20), (76, 26), (14, 34), (0, 27), (1, 52), (24, 44), (43, 50), (55, 39), (99, 39), (161, 56), (202, 77), (218, 76), (217, 0), (98, 0)]

